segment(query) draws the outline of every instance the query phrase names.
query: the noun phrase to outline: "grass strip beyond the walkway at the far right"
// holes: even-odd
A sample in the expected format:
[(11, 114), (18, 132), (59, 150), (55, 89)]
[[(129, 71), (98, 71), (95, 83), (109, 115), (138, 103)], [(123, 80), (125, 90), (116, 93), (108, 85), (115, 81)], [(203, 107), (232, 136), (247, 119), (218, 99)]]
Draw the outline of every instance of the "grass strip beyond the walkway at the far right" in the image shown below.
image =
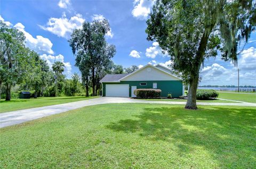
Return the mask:
[(231, 92), (218, 92), (220, 99), (229, 99), (236, 101), (245, 101), (256, 103), (256, 94), (254, 93), (231, 93)]

